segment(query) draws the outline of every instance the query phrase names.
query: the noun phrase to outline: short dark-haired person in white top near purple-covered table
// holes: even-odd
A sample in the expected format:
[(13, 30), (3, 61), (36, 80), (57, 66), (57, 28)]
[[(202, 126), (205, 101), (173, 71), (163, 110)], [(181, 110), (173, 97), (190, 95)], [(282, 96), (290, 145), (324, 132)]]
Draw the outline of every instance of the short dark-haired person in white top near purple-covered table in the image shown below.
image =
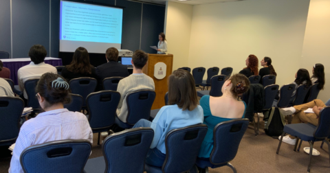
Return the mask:
[(31, 58), (30, 65), (25, 65), (17, 71), (17, 78), (19, 78), (19, 89), (24, 91), (24, 98), (28, 99), (28, 95), (24, 90), (24, 82), (33, 79), (40, 78), (44, 73), (57, 74), (57, 70), (52, 65), (48, 65), (44, 62), (47, 56), (47, 51), (43, 45), (33, 45), (29, 51)]

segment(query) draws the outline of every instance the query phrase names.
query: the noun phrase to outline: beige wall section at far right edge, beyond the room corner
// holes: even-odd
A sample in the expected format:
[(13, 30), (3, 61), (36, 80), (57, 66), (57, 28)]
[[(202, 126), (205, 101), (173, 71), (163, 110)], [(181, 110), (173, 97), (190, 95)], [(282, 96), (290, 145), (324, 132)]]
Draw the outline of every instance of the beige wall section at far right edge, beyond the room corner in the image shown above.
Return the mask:
[(309, 70), (316, 63), (325, 65), (325, 90), (318, 98), (326, 102), (330, 98), (330, 1), (311, 0), (307, 18), (303, 56), (300, 68)]

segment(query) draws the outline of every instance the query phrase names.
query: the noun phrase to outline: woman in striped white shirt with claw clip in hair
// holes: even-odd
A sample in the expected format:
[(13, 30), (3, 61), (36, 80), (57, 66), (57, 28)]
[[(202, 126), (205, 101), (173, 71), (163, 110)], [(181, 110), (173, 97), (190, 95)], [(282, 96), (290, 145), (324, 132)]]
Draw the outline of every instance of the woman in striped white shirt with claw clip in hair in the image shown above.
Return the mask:
[(36, 85), (36, 92), (45, 112), (29, 119), (21, 127), (9, 172), (23, 172), (19, 157), (29, 146), (65, 139), (87, 139), (93, 143), (93, 132), (86, 116), (63, 108), (63, 104), (71, 100), (69, 84), (64, 78), (54, 73), (45, 73)]

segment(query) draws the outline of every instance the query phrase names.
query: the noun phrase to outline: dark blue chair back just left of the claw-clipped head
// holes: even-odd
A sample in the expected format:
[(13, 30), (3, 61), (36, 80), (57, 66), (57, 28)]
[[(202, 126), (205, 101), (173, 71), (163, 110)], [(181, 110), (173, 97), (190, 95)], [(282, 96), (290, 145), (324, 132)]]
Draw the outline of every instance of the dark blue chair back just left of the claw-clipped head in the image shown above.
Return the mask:
[(36, 97), (36, 84), (39, 78), (30, 79), (24, 82), (25, 92), (28, 94), (28, 107), (41, 108), (38, 98)]

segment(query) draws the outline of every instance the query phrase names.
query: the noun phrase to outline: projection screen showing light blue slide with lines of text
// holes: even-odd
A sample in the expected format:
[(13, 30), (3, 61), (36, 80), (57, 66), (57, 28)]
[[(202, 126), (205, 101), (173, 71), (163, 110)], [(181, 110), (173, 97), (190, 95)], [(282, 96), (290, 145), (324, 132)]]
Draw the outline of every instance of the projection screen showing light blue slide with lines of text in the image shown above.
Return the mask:
[(122, 9), (89, 3), (61, 1), (60, 51), (85, 47), (104, 53), (109, 47), (121, 48)]

